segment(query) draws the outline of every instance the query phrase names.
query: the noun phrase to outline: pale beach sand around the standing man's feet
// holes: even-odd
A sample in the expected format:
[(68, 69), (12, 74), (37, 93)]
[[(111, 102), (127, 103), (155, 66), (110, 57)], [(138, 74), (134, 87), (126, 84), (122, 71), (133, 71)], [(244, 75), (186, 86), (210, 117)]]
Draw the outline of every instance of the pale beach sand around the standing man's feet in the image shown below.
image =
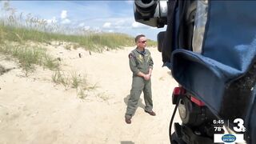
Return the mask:
[(127, 55), (132, 49), (92, 55), (84, 50), (50, 49), (51, 54), (62, 58), (63, 70), (86, 75), (90, 83), (97, 83), (98, 88), (85, 100), (78, 98), (76, 90), (51, 82), (50, 70), (38, 68), (26, 78), (17, 68), (0, 76), (0, 143), (169, 143), (168, 126), (174, 109), (171, 92), (178, 84), (170, 70), (162, 68), (156, 48), (150, 51), (157, 116), (144, 112), (141, 97), (132, 124), (124, 122), (131, 85)]

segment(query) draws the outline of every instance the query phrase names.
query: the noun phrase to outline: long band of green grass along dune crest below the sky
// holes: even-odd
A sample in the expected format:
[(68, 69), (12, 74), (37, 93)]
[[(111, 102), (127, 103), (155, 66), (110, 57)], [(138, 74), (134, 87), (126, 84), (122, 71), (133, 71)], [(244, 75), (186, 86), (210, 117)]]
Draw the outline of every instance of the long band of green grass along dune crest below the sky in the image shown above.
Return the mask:
[[(113, 50), (123, 46), (134, 46), (134, 38), (127, 34), (119, 33), (90, 33), (86, 35), (56, 34), (24, 27), (6, 26), (3, 23), (0, 23), (0, 32), (2, 37), (4, 35), (4, 39), (9, 41), (74, 42), (86, 50), (96, 52), (102, 51), (105, 47)], [(156, 42), (149, 40), (147, 45), (156, 46)]]

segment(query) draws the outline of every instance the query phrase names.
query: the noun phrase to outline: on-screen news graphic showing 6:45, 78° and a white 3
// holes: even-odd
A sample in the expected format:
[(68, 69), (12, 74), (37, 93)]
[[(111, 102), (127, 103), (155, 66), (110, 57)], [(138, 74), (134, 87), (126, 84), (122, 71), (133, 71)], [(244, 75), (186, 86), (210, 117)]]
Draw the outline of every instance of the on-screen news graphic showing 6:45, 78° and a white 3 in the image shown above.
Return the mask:
[[(215, 132), (220, 132), (223, 130), (224, 120), (214, 120), (214, 130)], [(246, 131), (246, 127), (244, 126), (244, 121), (242, 118), (234, 119), (234, 127), (235, 132), (244, 133)], [(244, 134), (214, 134), (214, 143), (228, 143), (233, 144), (236, 142), (245, 142)]]

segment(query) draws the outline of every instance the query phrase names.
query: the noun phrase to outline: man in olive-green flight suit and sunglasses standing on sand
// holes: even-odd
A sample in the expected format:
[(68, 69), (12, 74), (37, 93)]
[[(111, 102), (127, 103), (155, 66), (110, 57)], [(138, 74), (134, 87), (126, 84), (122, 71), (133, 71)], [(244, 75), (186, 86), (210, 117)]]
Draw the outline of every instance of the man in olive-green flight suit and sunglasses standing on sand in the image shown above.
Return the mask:
[(153, 60), (150, 56), (150, 50), (146, 47), (146, 36), (143, 34), (135, 38), (137, 47), (129, 54), (130, 70), (133, 72), (130, 98), (127, 102), (126, 123), (131, 123), (131, 118), (137, 109), (140, 95), (144, 94), (145, 112), (154, 116), (152, 93), (151, 93), (151, 73), (153, 70)]

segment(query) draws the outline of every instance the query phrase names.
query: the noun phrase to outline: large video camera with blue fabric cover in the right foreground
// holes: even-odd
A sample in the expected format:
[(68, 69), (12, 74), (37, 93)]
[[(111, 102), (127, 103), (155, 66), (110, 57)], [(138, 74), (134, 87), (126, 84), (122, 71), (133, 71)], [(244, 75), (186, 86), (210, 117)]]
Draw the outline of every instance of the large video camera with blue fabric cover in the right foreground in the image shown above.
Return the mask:
[[(166, 26), (158, 50), (179, 83), (171, 143), (256, 144), (255, 7), (255, 1), (134, 1), (137, 22)], [(171, 134), (177, 109), (182, 124), (175, 122)]]

